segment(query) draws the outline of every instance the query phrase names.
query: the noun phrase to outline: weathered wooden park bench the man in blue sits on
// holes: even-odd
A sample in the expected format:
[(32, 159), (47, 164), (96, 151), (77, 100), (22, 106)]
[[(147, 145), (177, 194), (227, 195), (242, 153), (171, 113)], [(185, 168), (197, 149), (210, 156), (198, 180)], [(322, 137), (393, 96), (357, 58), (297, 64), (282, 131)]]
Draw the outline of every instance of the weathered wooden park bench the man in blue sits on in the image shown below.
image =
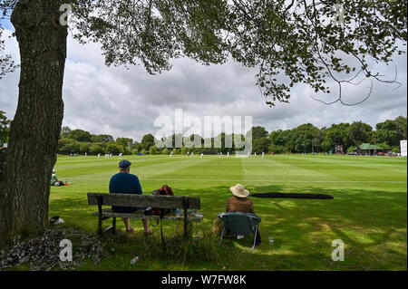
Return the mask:
[[(98, 217), (98, 235), (102, 236), (103, 232), (112, 230), (116, 234), (116, 218), (129, 217), (132, 219), (165, 219), (171, 221), (184, 221), (184, 236), (187, 237), (187, 226), (189, 222), (201, 222), (203, 214), (197, 213), (201, 203), (199, 197), (182, 197), (182, 196), (151, 196), (151, 195), (131, 195), (131, 194), (109, 194), (109, 193), (88, 193), (88, 204), (97, 205), (98, 212), (92, 216)], [(144, 210), (138, 210), (133, 213), (115, 213), (112, 208), (102, 208), (102, 206), (117, 207), (158, 207), (158, 208), (182, 208), (180, 216), (176, 213), (170, 213), (164, 217), (145, 216)], [(189, 211), (193, 209), (193, 211)], [(102, 231), (102, 221), (112, 217), (112, 226)]]

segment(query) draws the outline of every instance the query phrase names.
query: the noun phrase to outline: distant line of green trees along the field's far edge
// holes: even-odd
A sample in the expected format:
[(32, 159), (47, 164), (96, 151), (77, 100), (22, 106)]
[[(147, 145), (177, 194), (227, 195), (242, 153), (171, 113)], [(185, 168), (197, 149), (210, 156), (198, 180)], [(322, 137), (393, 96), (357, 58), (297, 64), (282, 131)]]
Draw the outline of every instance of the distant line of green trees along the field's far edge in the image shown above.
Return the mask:
[[(2, 122), (3, 123), (3, 122)], [(400, 140), (407, 139), (407, 118), (399, 116), (394, 120), (385, 120), (375, 125), (375, 128), (363, 121), (353, 121), (352, 123), (341, 122), (332, 124), (330, 127), (317, 128), (311, 123), (305, 123), (291, 130), (273, 130), (268, 132), (261, 126), (255, 126), (252, 129), (252, 151), (260, 154), (265, 153), (300, 153), (300, 152), (327, 152), (334, 150), (335, 146), (343, 146), (344, 151), (351, 152), (356, 146), (362, 143), (374, 143), (383, 149), (400, 152)], [(4, 130), (0, 130), (4, 131)], [(4, 135), (4, 134), (3, 134)], [(248, 136), (248, 133), (247, 135)], [(176, 135), (173, 134), (172, 148), (158, 148), (155, 145), (154, 136), (149, 133), (143, 136), (141, 141), (131, 138), (117, 138), (116, 140), (109, 134), (92, 134), (86, 130), (71, 130), (69, 127), (63, 127), (60, 140), (58, 140), (58, 153), (60, 154), (227, 154), (234, 153), (238, 148), (235, 142), (232, 147), (226, 146), (226, 138), (234, 135), (221, 133), (220, 148), (215, 148), (214, 143), (217, 137), (211, 138), (211, 148), (205, 148), (203, 139), (199, 135), (182, 137), (183, 140), (195, 140), (201, 144), (199, 147), (175, 148)], [(238, 138), (239, 139), (239, 138)], [(241, 140), (245, 140), (243, 135)]]

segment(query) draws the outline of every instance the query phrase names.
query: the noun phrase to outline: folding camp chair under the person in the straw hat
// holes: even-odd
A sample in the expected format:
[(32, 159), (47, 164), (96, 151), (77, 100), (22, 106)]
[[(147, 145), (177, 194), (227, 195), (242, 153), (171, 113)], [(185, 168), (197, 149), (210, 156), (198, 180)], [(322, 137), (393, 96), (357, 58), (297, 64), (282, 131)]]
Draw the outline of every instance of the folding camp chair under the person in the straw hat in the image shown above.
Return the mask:
[(232, 234), (247, 236), (254, 233), (254, 245), (251, 250), (255, 248), (255, 243), (257, 241), (257, 227), (261, 221), (260, 217), (251, 213), (220, 213), (219, 218), (223, 221), (224, 226), (222, 226), (221, 238), (219, 239), (219, 245), (224, 237), (225, 230), (228, 229)]

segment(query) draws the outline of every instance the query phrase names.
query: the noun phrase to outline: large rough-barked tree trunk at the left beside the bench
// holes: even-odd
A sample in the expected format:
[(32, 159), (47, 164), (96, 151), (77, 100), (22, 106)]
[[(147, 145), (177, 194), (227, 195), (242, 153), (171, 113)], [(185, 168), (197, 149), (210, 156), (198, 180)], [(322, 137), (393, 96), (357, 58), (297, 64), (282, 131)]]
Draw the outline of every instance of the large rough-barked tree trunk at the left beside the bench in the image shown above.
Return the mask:
[(0, 232), (44, 230), (50, 178), (63, 121), (67, 27), (59, 7), (69, 1), (20, 0), (11, 16), (20, 47), (21, 75), (11, 123), (5, 180), (0, 186)]

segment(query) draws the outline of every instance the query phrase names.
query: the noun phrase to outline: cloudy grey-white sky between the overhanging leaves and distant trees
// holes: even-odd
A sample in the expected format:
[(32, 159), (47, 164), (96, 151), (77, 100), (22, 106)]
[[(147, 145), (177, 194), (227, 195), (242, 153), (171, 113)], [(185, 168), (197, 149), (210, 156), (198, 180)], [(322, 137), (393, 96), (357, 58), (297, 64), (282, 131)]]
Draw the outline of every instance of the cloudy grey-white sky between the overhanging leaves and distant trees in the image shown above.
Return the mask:
[[(11, 34), (6, 27), (5, 36)], [(6, 39), (6, 51), (19, 61), (15, 39)], [(156, 133), (154, 120), (160, 115), (173, 116), (176, 109), (184, 115), (252, 116), (253, 125), (268, 131), (291, 129), (310, 122), (321, 128), (333, 123), (362, 120), (371, 124), (407, 115), (406, 55), (394, 58), (388, 66), (376, 66), (396, 85), (374, 82), (372, 96), (364, 103), (347, 107), (340, 103), (327, 106), (310, 98), (308, 87), (298, 85), (290, 103), (270, 108), (255, 85), (256, 70), (238, 63), (202, 66), (189, 59), (173, 61), (170, 72), (149, 75), (142, 66), (106, 67), (99, 45), (82, 45), (71, 37), (63, 83), (63, 125), (91, 133), (112, 134), (114, 138), (141, 140), (146, 133)], [(9, 119), (15, 114), (19, 71), (0, 81), (0, 110)], [(344, 101), (364, 99), (370, 82), (345, 87)], [(325, 101), (335, 95), (325, 95)]]

